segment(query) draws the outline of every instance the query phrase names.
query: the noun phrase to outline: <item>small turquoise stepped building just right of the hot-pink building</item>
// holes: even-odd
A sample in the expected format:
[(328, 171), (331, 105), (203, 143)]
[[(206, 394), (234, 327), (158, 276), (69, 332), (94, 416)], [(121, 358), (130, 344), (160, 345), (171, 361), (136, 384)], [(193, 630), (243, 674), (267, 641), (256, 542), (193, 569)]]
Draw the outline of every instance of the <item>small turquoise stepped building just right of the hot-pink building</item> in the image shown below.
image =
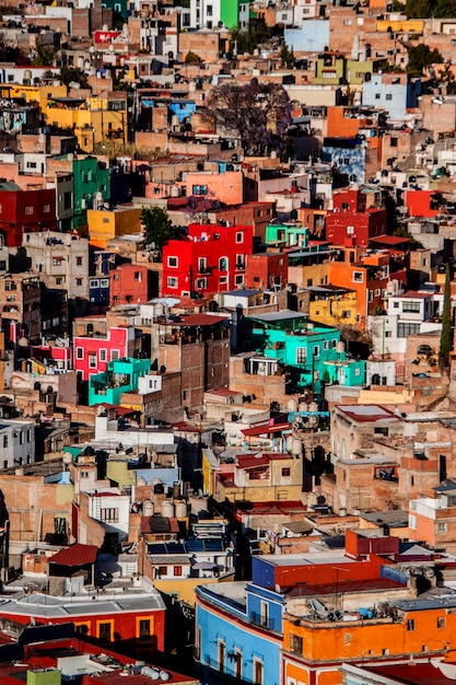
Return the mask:
[(117, 359), (108, 361), (106, 371), (96, 373), (89, 381), (89, 406), (101, 403), (118, 405), (122, 393), (135, 391), (138, 379), (151, 369), (150, 359)]

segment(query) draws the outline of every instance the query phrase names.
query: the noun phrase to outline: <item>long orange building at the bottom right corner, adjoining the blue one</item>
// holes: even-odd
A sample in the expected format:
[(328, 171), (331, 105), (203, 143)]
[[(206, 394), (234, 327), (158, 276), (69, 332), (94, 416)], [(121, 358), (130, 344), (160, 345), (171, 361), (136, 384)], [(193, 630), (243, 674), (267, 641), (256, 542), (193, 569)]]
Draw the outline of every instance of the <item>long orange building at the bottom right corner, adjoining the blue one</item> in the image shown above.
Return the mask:
[[(350, 584), (339, 584), (339, 596)], [(305, 616), (285, 614), (283, 683), (339, 685), (342, 663), (375, 667), (410, 659), (428, 663), (455, 648), (456, 601), (418, 597), (383, 605), (383, 596), (377, 595), (376, 615), (360, 609), (349, 615), (350, 620), (347, 614), (330, 620), (315, 611)]]

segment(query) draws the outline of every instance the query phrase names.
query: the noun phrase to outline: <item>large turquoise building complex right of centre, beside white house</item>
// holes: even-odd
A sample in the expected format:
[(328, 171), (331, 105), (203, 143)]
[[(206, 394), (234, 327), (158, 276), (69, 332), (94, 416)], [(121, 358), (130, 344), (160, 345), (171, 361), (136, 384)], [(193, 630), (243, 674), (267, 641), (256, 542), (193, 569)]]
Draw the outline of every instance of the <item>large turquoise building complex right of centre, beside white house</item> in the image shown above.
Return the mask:
[(364, 385), (365, 361), (347, 357), (340, 330), (314, 324), (296, 312), (271, 312), (250, 316), (250, 348), (265, 363), (274, 362), (288, 376), (290, 393), (311, 388), (321, 392), (323, 384)]

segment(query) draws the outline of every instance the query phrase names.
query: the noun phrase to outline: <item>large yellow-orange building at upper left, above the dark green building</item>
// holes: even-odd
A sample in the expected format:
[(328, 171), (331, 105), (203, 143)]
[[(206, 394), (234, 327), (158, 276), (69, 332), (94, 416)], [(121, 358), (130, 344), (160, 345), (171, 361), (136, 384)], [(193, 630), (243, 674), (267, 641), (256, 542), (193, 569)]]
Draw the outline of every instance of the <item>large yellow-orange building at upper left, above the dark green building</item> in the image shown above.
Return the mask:
[[(120, 96), (119, 96), (120, 95)], [(104, 93), (91, 97), (55, 96), (46, 104), (48, 124), (68, 129), (84, 152), (108, 141), (128, 140), (126, 93)]]

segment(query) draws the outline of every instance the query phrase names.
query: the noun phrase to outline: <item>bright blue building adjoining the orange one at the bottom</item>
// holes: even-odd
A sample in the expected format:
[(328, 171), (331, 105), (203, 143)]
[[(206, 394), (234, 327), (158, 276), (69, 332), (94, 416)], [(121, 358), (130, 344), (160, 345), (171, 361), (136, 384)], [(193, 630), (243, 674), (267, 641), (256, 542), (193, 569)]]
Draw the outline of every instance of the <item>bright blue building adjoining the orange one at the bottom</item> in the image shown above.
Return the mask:
[(197, 588), (196, 655), (203, 685), (279, 685), (283, 597), (253, 583)]

